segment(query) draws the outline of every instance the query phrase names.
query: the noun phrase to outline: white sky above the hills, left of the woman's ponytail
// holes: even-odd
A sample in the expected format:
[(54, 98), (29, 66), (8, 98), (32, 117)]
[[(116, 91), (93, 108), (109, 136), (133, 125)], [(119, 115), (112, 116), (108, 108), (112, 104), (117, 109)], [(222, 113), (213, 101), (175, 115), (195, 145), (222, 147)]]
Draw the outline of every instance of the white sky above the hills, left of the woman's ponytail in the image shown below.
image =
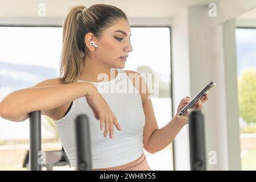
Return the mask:
[(0, 27), (0, 61), (58, 68), (61, 28)]

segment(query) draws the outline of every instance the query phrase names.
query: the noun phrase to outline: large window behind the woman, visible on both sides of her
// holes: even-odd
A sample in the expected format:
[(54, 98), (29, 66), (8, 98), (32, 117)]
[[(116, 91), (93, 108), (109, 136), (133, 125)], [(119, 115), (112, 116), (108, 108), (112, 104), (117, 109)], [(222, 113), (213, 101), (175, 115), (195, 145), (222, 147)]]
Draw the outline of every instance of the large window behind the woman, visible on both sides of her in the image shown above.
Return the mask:
[[(131, 31), (133, 52), (124, 69), (159, 76), (159, 93), (151, 101), (161, 128), (172, 118), (170, 28), (131, 27)], [(0, 100), (15, 90), (59, 77), (62, 28), (0, 27), (0, 32)], [(54, 123), (46, 116), (42, 117), (42, 140), (44, 151), (62, 147)], [(28, 119), (11, 122), (0, 118), (0, 170), (26, 170), (22, 163), (28, 150)], [(153, 170), (173, 169), (172, 144), (154, 155), (145, 151), (145, 155)]]

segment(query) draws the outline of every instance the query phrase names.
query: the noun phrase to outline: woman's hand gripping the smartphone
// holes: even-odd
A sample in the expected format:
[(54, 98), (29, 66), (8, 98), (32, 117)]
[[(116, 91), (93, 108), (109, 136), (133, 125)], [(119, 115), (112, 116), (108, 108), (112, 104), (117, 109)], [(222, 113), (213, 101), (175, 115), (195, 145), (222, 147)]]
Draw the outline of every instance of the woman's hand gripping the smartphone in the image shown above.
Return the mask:
[[(193, 107), (191, 107), (191, 109), (203, 109), (203, 103), (209, 100), (209, 96), (207, 93), (204, 94), (203, 97), (200, 98), (200, 100), (198, 100), (196, 102), (196, 104), (193, 105)], [(181, 123), (181, 125), (186, 125), (188, 124), (188, 112), (186, 112), (184, 115), (179, 116), (179, 112), (181, 111), (181, 109), (183, 109), (183, 107), (185, 107), (189, 102), (191, 101), (190, 97), (184, 97), (181, 101), (179, 106), (177, 107), (177, 113), (175, 115), (175, 117), (177, 117), (177, 120)]]

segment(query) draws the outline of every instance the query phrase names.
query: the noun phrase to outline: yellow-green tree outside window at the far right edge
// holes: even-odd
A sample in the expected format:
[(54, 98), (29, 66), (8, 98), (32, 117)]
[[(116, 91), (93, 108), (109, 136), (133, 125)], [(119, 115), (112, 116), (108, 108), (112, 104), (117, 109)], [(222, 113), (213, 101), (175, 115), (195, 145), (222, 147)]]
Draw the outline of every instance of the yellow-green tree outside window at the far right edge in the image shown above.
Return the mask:
[(242, 72), (238, 81), (240, 115), (247, 123), (256, 123), (256, 69)]

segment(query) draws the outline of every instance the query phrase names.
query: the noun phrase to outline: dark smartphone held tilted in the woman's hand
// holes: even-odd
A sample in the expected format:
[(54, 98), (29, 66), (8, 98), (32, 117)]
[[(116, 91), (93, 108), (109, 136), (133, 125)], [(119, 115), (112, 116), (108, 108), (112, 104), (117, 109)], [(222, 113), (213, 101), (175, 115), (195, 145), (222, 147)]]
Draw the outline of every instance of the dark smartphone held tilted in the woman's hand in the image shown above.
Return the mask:
[(205, 93), (207, 93), (210, 89), (213, 88), (213, 86), (216, 85), (216, 82), (212, 81), (210, 82), (199, 94), (196, 95), (181, 111), (179, 112), (179, 115), (183, 115), (187, 112), (188, 109), (190, 109), (201, 97), (204, 96)]

